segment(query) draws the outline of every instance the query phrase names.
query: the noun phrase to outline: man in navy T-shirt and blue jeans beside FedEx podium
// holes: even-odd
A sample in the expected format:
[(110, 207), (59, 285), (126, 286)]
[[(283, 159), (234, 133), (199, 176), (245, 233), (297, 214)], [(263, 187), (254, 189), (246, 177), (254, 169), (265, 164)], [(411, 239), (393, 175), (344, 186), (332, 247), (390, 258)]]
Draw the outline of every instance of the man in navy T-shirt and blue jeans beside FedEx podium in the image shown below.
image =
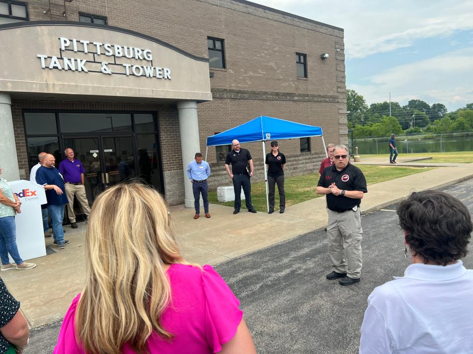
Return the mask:
[(46, 200), (48, 201), (48, 213), (51, 216), (54, 244), (58, 249), (66, 248), (69, 240), (64, 239), (63, 219), (64, 206), (68, 204), (66, 197), (66, 183), (59, 170), (54, 167), (56, 159), (51, 154), (43, 157), (43, 165), (36, 172), (36, 183), (46, 189)]

